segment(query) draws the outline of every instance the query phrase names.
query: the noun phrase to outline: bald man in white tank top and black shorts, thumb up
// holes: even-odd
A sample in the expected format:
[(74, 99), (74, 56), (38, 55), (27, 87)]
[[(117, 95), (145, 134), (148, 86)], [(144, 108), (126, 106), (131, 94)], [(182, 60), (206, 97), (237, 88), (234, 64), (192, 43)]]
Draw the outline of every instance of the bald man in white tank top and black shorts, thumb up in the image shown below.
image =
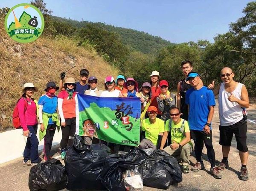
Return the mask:
[[(248, 180), (248, 148), (246, 145), (247, 122), (243, 117), (243, 108), (249, 108), (248, 92), (244, 84), (233, 80), (235, 76), (231, 68), (221, 70), (221, 80), (223, 83), (218, 85), (214, 90), (214, 95), (219, 99), (219, 117), (220, 117), (220, 145), (222, 145), (223, 160), (218, 166), (219, 170), (228, 167), (228, 154), (233, 134), (236, 136), (237, 149), (241, 160), (240, 180)], [(215, 87), (214, 81), (209, 84), (208, 88)]]

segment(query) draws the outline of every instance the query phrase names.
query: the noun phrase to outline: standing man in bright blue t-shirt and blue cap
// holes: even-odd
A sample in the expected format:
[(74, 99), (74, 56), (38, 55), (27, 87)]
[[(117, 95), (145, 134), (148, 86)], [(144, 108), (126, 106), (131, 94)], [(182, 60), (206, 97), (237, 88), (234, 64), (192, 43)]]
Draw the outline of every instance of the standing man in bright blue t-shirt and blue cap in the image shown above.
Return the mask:
[(195, 72), (190, 72), (186, 81), (193, 87), (186, 92), (186, 104), (189, 110), (189, 128), (195, 142), (195, 157), (197, 162), (191, 171), (204, 169), (202, 150), (204, 144), (207, 148), (207, 157), (211, 163), (210, 173), (216, 179), (221, 174), (215, 167), (215, 152), (212, 146), (211, 121), (214, 114), (215, 99), (212, 90), (207, 89), (200, 83), (200, 77)]

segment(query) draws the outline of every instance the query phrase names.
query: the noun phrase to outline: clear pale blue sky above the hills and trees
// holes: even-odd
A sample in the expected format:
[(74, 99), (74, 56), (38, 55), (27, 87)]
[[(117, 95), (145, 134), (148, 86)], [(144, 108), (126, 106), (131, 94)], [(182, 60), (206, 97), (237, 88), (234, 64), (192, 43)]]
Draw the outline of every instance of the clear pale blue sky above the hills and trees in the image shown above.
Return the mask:
[[(252, 0), (44, 0), (52, 15), (144, 31), (172, 43), (209, 40), (229, 30)], [(13, 7), (30, 0), (0, 0)]]

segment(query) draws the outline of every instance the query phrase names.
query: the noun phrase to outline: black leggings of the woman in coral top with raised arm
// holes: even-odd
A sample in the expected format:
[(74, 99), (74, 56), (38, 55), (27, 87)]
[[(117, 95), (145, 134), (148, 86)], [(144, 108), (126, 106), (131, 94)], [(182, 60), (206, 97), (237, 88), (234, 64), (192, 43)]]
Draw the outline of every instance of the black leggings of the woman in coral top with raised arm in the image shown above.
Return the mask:
[(65, 119), (66, 126), (61, 126), (62, 139), (61, 150), (64, 151), (68, 147), (71, 147), (74, 142), (74, 135), (76, 133), (76, 117)]

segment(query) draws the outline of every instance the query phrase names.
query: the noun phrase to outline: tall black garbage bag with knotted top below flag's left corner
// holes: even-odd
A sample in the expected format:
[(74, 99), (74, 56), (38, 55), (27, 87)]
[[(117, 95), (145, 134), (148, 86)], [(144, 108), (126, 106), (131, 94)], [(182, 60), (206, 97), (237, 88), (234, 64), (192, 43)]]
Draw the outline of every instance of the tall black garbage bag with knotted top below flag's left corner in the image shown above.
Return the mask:
[(104, 190), (99, 177), (110, 148), (103, 144), (85, 145), (80, 136), (65, 157), (68, 190)]

